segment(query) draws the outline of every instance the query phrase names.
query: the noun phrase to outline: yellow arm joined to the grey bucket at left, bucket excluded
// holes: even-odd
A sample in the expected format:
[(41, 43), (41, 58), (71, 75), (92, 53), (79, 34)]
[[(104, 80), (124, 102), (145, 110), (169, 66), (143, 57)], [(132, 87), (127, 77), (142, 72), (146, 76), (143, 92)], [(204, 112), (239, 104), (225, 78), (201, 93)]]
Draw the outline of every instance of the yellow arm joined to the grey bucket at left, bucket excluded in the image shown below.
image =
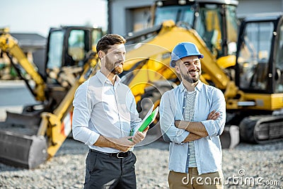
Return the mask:
[(83, 68), (83, 73), (79, 79), (74, 82), (71, 88), (69, 88), (66, 96), (64, 96), (62, 102), (54, 112), (41, 113), (42, 121), (40, 122), (37, 136), (47, 135), (47, 159), (50, 159), (57, 153), (59, 147), (62, 146), (64, 140), (71, 132), (72, 108), (76, 88), (78, 88), (83, 81), (86, 81), (86, 79), (96, 74), (98, 69), (100, 69), (98, 57), (88, 57), (88, 62)]

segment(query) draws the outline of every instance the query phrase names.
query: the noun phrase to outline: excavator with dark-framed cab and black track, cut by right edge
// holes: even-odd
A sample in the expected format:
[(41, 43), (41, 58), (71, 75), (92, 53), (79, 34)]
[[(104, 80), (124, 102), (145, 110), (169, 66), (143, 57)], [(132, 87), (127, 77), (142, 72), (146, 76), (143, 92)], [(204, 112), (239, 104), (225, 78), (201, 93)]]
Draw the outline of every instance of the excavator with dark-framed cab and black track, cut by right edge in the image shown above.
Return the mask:
[(242, 141), (261, 143), (283, 137), (282, 50), (282, 13), (248, 16), (241, 22), (235, 82), (243, 102), (238, 101), (241, 111), (229, 111), (234, 115), (229, 122), (239, 125)]

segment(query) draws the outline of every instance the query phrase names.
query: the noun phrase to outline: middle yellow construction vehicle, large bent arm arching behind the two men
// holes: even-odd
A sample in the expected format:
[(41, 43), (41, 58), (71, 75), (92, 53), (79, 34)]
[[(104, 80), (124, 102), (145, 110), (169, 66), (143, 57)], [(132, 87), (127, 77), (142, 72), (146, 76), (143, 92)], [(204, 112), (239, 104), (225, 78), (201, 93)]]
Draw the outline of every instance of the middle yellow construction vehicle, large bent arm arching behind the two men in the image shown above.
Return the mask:
[(146, 98), (157, 106), (161, 95), (180, 83), (178, 74), (169, 66), (171, 51), (179, 42), (194, 42), (204, 54), (202, 81), (205, 84), (223, 91), (233, 84), (223, 69), (235, 66), (236, 62), (237, 5), (238, 1), (223, 0), (155, 2), (153, 26), (126, 37), (127, 62), (122, 80), (132, 88), (141, 117), (142, 110), (151, 103)]

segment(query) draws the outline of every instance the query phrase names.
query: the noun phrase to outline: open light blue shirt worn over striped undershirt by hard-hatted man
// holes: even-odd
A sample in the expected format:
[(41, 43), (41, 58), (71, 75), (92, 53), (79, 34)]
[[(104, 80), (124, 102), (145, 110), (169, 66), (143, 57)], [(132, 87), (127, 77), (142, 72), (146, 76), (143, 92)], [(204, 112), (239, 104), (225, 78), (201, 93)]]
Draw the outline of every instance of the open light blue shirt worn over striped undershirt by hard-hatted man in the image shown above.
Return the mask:
[[(182, 143), (190, 132), (175, 127), (175, 120), (184, 120), (183, 101), (186, 89), (181, 83), (171, 91), (166, 91), (161, 97), (160, 125), (163, 137), (169, 146), (169, 170), (187, 173), (187, 143)], [(222, 152), (219, 135), (224, 130), (226, 121), (226, 103), (224, 94), (213, 86), (199, 81), (195, 87), (195, 117), (194, 122), (202, 122), (208, 136), (194, 141), (197, 171), (213, 173), (221, 170)], [(207, 120), (212, 110), (220, 113), (216, 120)]]

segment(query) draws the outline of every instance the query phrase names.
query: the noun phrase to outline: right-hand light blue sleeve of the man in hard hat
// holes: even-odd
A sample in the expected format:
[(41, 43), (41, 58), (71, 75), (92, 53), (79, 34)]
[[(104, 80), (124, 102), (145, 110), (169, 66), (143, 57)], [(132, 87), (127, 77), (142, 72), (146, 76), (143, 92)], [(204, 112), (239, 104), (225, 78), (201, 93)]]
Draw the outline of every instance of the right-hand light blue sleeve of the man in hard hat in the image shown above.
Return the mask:
[(219, 89), (216, 89), (212, 93), (212, 108), (210, 112), (212, 110), (216, 110), (216, 112), (220, 113), (219, 118), (216, 120), (202, 121), (209, 137), (215, 137), (222, 134), (226, 122), (226, 102), (224, 94)]

